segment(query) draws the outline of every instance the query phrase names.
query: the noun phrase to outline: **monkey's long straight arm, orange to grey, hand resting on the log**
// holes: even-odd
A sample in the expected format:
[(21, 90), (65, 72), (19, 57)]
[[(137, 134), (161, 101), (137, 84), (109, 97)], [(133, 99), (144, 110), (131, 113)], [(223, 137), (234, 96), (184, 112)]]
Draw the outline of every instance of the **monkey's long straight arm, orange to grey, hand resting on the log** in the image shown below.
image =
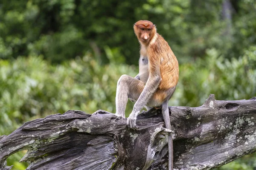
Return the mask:
[(132, 129), (137, 129), (136, 119), (137, 115), (140, 113), (140, 110), (148, 103), (151, 96), (157, 90), (160, 82), (161, 82), (161, 74), (160, 74), (160, 59), (157, 57), (159, 55), (151, 55), (149, 56), (149, 77), (148, 81), (145, 84), (145, 88), (143, 89), (140, 97), (137, 102), (134, 104), (134, 108), (127, 119), (127, 126)]

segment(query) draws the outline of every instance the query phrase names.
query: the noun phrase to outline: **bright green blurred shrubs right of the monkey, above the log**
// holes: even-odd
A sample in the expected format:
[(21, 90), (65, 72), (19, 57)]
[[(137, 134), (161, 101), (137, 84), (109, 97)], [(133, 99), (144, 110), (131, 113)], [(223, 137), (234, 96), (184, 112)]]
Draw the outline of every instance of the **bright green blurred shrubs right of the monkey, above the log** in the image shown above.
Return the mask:
[[(196, 63), (196, 64), (195, 64)], [(175, 105), (200, 106), (209, 94), (219, 100), (250, 99), (256, 96), (256, 46), (238, 59), (225, 59), (216, 49), (204, 59), (180, 65)]]

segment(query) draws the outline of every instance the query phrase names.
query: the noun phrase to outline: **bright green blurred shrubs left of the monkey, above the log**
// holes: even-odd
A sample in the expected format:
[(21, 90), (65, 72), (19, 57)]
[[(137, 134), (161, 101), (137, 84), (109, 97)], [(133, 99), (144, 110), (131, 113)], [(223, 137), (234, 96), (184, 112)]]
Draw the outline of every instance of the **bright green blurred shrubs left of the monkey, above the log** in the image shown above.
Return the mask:
[(0, 60), (0, 135), (29, 119), (70, 109), (114, 112), (116, 82), (125, 73), (135, 76), (134, 70), (125, 64), (101, 66), (89, 54), (57, 66), (42, 57)]

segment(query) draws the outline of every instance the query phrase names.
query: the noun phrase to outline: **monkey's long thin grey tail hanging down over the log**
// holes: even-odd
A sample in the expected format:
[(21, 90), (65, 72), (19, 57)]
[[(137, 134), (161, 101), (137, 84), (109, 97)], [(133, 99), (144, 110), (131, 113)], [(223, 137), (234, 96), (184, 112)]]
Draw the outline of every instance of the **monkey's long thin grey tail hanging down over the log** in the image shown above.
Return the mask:
[[(171, 130), (171, 124), (170, 124), (170, 115), (169, 115), (169, 107), (168, 107), (168, 100), (163, 102), (162, 105), (162, 114), (163, 119), (166, 124), (166, 129)], [(169, 152), (169, 170), (173, 170), (173, 146), (172, 146), (172, 134), (168, 135), (168, 152)]]

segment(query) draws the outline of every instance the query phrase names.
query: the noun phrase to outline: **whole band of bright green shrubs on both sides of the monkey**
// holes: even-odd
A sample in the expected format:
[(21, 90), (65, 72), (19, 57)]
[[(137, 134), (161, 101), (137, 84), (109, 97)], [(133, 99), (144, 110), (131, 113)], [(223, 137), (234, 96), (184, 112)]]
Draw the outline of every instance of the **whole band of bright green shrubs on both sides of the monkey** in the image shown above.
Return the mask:
[[(206, 59), (180, 65), (180, 80), (170, 105), (200, 106), (210, 93), (221, 100), (250, 99), (256, 96), (255, 67), (255, 46), (231, 60), (216, 49), (207, 50)], [(30, 119), (70, 109), (114, 113), (117, 80), (122, 74), (134, 77), (137, 72), (135, 66), (115, 62), (99, 65), (90, 54), (56, 66), (40, 56), (0, 60), (0, 135)], [(126, 116), (131, 109), (129, 102)], [(235, 161), (228, 167), (241, 166), (245, 167)], [(255, 167), (253, 163), (247, 166)]]

